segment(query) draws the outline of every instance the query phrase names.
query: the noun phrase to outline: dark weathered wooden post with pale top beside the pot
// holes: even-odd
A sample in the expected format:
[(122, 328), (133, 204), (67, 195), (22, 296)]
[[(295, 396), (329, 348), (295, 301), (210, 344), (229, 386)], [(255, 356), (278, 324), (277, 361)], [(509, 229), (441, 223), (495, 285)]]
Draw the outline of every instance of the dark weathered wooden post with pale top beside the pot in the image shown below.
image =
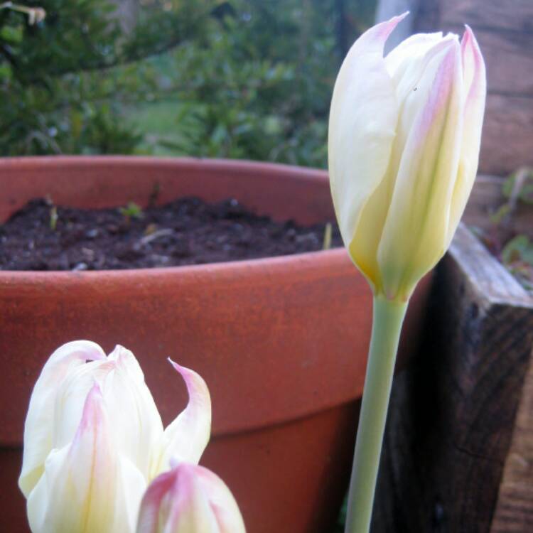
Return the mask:
[(533, 342), (533, 299), (460, 227), (415, 365), (395, 379), (374, 532), (488, 533)]

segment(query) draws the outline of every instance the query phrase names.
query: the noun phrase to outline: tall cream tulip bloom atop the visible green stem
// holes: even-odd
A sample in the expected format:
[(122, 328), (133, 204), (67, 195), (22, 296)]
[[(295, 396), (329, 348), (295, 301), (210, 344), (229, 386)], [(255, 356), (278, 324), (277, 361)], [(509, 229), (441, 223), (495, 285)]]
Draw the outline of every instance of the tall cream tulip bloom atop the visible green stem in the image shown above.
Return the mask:
[(407, 38), (405, 15), (352, 46), (330, 108), (330, 187), (345, 246), (375, 294), (406, 301), (448, 249), (473, 187), (485, 65), (470, 28)]

